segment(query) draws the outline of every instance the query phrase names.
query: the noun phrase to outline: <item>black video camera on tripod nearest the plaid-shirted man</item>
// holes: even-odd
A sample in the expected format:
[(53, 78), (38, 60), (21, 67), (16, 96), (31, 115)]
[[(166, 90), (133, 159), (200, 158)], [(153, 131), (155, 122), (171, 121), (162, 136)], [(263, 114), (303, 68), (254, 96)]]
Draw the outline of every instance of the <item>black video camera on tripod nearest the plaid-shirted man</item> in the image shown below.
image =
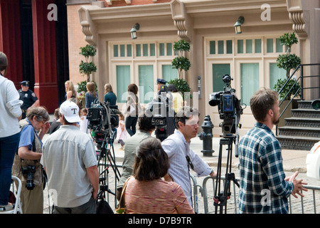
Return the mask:
[(240, 100), (235, 95), (235, 89), (230, 86), (233, 78), (225, 74), (222, 80), (225, 83), (223, 91), (210, 93), (209, 105), (218, 105), (220, 119), (223, 120), (223, 123), (220, 123), (223, 138), (229, 138), (233, 137), (233, 134), (236, 133), (243, 109), (241, 108)]

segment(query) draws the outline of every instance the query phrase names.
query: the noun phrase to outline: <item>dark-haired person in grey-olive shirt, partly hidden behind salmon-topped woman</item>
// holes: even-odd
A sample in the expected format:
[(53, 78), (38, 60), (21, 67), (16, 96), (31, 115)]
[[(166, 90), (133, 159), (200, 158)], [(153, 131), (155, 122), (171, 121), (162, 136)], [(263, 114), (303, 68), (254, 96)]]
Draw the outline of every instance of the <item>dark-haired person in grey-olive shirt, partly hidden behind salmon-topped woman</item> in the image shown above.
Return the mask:
[(138, 118), (139, 130), (137, 133), (128, 138), (124, 145), (124, 160), (122, 162), (122, 175), (117, 183), (117, 199), (120, 200), (124, 182), (132, 176), (134, 160), (136, 158), (136, 148), (145, 138), (151, 137), (151, 133), (156, 126), (151, 124), (152, 117), (146, 115)]

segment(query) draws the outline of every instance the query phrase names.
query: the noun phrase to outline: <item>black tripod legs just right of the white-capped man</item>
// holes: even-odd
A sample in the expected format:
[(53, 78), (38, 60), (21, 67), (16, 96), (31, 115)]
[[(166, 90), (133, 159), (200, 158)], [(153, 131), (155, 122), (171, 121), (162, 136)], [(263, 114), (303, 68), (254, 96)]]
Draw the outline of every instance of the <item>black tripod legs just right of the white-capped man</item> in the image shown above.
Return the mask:
[[(114, 207), (117, 207), (117, 181), (121, 174), (118, 170), (115, 161), (114, 155), (114, 133), (112, 133), (111, 137), (108, 135), (105, 136), (105, 139), (102, 141), (101, 150), (97, 150), (97, 161), (98, 161), (98, 171), (99, 171), (99, 182), (100, 182), (100, 191), (98, 192), (98, 197), (106, 198), (107, 192), (107, 202), (109, 202), (109, 194), (114, 195)], [(99, 149), (99, 148), (98, 148)], [(112, 167), (114, 172), (114, 192), (112, 192), (109, 188), (109, 168)]]

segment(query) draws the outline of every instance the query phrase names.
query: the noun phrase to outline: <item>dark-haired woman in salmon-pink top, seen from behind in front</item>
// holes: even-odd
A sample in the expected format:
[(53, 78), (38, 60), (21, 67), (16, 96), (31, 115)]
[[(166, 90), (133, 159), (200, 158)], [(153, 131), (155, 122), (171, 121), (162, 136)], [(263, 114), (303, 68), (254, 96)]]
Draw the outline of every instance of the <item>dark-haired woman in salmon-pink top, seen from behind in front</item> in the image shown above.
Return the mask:
[(124, 191), (127, 213), (194, 213), (180, 185), (161, 180), (168, 169), (169, 158), (160, 140), (152, 137), (142, 140), (137, 147), (133, 177)]

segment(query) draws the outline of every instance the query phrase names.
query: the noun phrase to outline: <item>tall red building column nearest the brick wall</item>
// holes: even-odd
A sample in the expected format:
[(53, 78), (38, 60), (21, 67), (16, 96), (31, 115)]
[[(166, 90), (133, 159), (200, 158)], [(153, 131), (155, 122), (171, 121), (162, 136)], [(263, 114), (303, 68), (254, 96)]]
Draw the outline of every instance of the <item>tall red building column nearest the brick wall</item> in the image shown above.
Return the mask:
[(55, 21), (48, 20), (49, 4), (54, 4), (54, 0), (32, 0), (34, 92), (40, 105), (53, 113), (58, 108), (58, 76)]

